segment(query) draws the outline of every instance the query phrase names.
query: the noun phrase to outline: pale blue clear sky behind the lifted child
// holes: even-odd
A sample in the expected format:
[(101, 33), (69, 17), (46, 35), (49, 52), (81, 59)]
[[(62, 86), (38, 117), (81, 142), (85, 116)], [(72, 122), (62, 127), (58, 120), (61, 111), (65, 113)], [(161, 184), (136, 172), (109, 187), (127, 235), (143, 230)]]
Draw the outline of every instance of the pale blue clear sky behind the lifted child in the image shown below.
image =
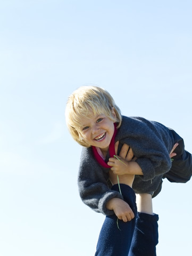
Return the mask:
[[(176, 130), (192, 152), (191, 1), (0, 3), (0, 254), (94, 255), (104, 215), (78, 194), (81, 147), (65, 125), (96, 84), (127, 116)], [(154, 198), (157, 255), (191, 251), (191, 181)]]

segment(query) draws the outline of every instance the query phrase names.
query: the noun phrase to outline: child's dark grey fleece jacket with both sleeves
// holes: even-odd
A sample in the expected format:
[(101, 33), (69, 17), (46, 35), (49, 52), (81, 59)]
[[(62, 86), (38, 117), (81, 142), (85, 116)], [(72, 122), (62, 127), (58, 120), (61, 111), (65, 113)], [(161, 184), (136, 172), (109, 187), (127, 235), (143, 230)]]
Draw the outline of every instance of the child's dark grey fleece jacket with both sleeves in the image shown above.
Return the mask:
[[(144, 173), (135, 176), (133, 190), (136, 193), (153, 193), (160, 184), (163, 174), (171, 168), (169, 153), (174, 145), (171, 131), (160, 123), (142, 117), (122, 116), (116, 141), (120, 142), (118, 154), (124, 143), (132, 148), (133, 154), (137, 157), (136, 162)], [(108, 185), (109, 170), (96, 161), (91, 147), (82, 149), (78, 174), (80, 197), (91, 209), (105, 215), (114, 214), (113, 211), (106, 209), (106, 203), (110, 199), (123, 199), (118, 191), (111, 190)]]

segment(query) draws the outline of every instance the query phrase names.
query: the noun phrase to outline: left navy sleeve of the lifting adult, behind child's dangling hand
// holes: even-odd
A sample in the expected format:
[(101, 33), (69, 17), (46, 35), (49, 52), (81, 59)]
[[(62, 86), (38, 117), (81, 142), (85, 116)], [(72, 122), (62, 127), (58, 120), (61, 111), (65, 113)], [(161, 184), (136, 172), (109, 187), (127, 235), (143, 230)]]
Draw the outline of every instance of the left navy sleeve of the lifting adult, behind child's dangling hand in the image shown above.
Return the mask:
[[(133, 210), (135, 218), (128, 222), (118, 220), (119, 229), (116, 215), (106, 216), (99, 234), (95, 256), (128, 256), (137, 215), (136, 196), (129, 186), (124, 184), (120, 186), (124, 201)], [(118, 185), (114, 185), (112, 189), (119, 191)]]

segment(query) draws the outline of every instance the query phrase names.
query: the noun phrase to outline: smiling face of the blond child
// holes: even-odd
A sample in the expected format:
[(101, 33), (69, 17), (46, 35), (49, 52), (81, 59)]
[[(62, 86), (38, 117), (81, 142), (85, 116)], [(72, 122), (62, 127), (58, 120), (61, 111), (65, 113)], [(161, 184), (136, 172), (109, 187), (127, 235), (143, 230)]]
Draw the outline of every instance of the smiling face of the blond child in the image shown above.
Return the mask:
[[(115, 117), (115, 113), (112, 112)], [(101, 148), (103, 152), (108, 150), (114, 133), (114, 123), (110, 118), (101, 115), (90, 115), (81, 119), (81, 137), (90, 145)]]

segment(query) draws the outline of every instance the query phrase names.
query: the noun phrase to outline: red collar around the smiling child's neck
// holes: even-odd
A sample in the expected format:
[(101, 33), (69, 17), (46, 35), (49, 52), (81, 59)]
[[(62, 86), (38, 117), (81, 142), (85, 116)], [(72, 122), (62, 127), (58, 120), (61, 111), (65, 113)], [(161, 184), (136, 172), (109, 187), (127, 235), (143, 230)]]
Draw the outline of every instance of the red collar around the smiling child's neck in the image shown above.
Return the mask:
[[(113, 157), (115, 155), (115, 135), (116, 135), (116, 132), (117, 132), (115, 123), (114, 123), (114, 127), (115, 127), (115, 129), (114, 129), (113, 137), (111, 139), (110, 146), (108, 147), (110, 157)], [(97, 160), (97, 162), (99, 164), (101, 164), (103, 167), (111, 168), (111, 166), (109, 166), (107, 163), (105, 163), (103, 158), (98, 154), (96, 147), (92, 146), (92, 148), (93, 148), (94, 157)]]

